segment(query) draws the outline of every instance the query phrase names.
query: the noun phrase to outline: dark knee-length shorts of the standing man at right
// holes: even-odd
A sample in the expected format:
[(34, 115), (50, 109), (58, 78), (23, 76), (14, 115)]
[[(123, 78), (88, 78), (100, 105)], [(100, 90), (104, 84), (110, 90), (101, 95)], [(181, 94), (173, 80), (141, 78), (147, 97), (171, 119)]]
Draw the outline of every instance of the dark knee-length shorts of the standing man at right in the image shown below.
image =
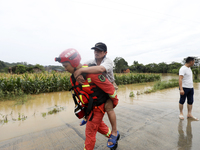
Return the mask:
[(185, 103), (185, 100), (186, 100), (186, 97), (187, 97), (187, 103), (189, 105), (192, 105), (193, 104), (193, 95), (194, 95), (194, 89), (193, 88), (183, 88), (184, 90), (184, 95), (180, 95), (180, 100), (179, 100), (179, 103), (180, 104), (184, 104)]

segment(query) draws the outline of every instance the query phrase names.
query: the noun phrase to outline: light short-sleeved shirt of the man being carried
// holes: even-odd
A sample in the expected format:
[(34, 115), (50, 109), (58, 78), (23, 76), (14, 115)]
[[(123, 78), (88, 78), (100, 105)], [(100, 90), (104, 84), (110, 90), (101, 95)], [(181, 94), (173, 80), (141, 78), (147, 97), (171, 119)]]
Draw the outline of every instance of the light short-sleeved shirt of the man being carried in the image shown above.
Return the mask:
[[(93, 60), (89, 60), (89, 61), (85, 62), (85, 64), (95, 64), (95, 65), (97, 65), (97, 62), (96, 62), (96, 60), (93, 59)], [(113, 75), (113, 62), (112, 62), (112, 60), (107, 58), (107, 57), (105, 57), (102, 60), (100, 66), (103, 66), (106, 69), (106, 72), (103, 72), (103, 75), (106, 78), (108, 78), (108, 80), (111, 83), (114, 82), (115, 79), (114, 79), (114, 75)]]

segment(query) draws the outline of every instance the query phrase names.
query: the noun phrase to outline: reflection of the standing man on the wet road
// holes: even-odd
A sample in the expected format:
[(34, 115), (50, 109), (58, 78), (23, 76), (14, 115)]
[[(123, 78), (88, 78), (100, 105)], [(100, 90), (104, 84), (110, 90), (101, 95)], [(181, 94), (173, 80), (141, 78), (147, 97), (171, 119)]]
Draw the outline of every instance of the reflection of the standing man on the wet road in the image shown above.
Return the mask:
[(187, 127), (186, 127), (186, 135), (183, 131), (183, 120), (179, 121), (178, 124), (178, 133), (179, 133), (179, 140), (178, 140), (178, 149), (186, 149), (191, 150), (192, 148), (192, 127), (191, 127), (191, 119), (187, 119)]

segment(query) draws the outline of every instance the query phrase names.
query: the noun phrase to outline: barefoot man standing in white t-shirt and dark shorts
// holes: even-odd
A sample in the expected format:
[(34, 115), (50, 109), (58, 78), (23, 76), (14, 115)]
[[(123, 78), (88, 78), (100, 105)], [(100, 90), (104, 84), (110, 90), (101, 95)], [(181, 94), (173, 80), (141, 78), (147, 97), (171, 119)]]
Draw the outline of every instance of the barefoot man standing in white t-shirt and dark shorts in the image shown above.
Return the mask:
[(185, 103), (187, 97), (187, 108), (188, 114), (187, 118), (198, 121), (199, 119), (192, 115), (192, 105), (194, 102), (194, 88), (193, 88), (193, 76), (192, 70), (190, 67), (194, 65), (194, 58), (187, 57), (186, 63), (179, 70), (179, 89), (180, 89), (180, 100), (179, 100), (179, 110), (180, 110), (180, 119), (184, 119), (183, 116), (183, 104)]

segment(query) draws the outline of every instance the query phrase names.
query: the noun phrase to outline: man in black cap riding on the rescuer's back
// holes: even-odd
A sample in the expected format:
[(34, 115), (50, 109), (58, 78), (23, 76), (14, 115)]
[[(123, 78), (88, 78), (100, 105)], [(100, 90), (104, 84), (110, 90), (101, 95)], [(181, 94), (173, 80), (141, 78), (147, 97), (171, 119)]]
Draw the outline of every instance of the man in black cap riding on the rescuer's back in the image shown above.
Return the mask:
[[(81, 75), (82, 73), (102, 73), (108, 80), (113, 84), (115, 89), (117, 90), (117, 84), (114, 80), (113, 75), (113, 62), (109, 58), (106, 57), (107, 55), (107, 46), (106, 44), (99, 42), (96, 43), (94, 47), (91, 48), (94, 50), (94, 60), (87, 61), (85, 64), (90, 64), (91, 67), (88, 68), (80, 68), (76, 70), (74, 73), (75, 78), (80, 84), (83, 84), (84, 78)], [(117, 136), (117, 121), (116, 121), (116, 114), (113, 110), (112, 100), (108, 99), (105, 104), (105, 111), (108, 114), (109, 121), (112, 127), (112, 135)], [(83, 120), (80, 125), (84, 125), (87, 121)], [(113, 145), (111, 139), (108, 140), (108, 146)]]

